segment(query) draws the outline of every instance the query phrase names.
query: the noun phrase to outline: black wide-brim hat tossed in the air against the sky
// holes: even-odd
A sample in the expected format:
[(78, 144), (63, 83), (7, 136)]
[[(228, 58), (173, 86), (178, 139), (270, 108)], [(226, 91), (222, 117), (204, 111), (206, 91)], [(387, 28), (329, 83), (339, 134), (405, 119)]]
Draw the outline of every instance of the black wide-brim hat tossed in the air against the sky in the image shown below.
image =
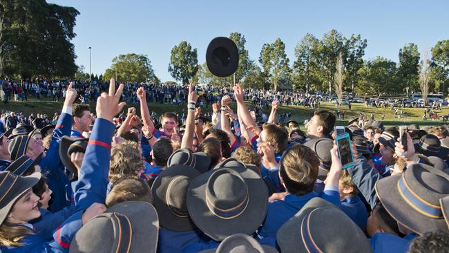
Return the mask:
[(216, 37), (207, 46), (206, 64), (212, 75), (229, 77), (238, 68), (238, 49), (227, 37)]

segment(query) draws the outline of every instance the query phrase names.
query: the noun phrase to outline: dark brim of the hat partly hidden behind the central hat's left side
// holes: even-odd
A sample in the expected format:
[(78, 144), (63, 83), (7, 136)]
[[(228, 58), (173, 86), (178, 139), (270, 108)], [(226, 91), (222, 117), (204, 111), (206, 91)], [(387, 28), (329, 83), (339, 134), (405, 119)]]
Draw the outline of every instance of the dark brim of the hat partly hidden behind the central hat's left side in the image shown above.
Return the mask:
[(153, 195), (153, 205), (159, 214), (160, 226), (175, 232), (187, 232), (196, 228), (195, 223), (189, 216), (175, 215), (166, 203), (167, 188), (170, 182), (178, 176), (186, 176), (193, 180), (200, 176), (200, 172), (187, 165), (168, 167), (156, 177), (151, 187), (151, 194)]

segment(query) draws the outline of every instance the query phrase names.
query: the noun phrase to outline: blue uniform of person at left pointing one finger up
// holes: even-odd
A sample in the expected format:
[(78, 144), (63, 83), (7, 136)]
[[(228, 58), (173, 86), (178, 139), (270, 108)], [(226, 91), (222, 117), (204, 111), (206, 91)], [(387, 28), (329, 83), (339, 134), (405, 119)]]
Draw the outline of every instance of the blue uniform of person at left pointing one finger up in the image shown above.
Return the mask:
[(48, 207), (48, 210), (53, 213), (70, 205), (70, 202), (67, 201), (67, 196), (70, 196), (72, 193), (67, 192), (67, 189), (70, 189), (70, 187), (66, 187), (66, 185), (70, 184), (66, 174), (64, 174), (61, 158), (59, 158), (59, 142), (62, 136), (70, 134), (72, 119), (72, 115), (61, 113), (55, 131), (53, 131), (46, 156), (39, 162), (42, 173), (48, 178), (48, 187), (53, 191), (50, 207)]

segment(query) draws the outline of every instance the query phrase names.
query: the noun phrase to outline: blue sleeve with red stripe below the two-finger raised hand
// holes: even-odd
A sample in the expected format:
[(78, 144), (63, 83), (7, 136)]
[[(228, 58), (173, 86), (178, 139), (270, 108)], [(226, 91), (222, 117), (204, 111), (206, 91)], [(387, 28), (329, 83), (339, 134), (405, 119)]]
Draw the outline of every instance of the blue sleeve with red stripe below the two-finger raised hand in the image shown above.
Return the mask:
[(76, 211), (84, 210), (93, 203), (104, 203), (106, 199), (114, 130), (114, 125), (108, 120), (95, 120), (84, 153), (80, 176), (75, 185)]

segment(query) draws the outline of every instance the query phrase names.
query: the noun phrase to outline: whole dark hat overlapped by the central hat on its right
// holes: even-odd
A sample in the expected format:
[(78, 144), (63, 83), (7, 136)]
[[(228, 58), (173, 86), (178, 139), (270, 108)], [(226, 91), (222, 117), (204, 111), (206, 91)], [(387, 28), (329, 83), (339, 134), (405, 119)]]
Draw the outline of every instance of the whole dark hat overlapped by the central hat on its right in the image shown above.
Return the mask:
[(175, 232), (196, 228), (187, 211), (187, 190), (200, 172), (186, 165), (172, 165), (162, 171), (153, 182), (153, 205), (161, 227)]

